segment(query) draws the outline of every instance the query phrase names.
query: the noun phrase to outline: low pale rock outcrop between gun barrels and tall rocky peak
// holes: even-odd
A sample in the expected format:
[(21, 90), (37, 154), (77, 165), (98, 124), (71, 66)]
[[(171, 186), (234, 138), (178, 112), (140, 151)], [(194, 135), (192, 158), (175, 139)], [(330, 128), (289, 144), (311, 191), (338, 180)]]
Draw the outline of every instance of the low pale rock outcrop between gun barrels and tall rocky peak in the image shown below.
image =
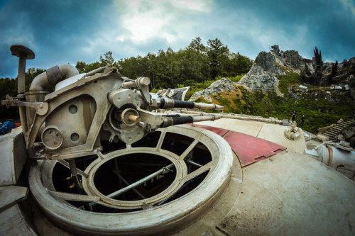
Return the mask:
[(229, 79), (222, 78), (217, 82), (213, 82), (207, 89), (197, 91), (195, 94), (192, 94), (189, 101), (195, 101), (202, 97), (202, 99), (212, 102), (210, 95), (217, 94), (222, 91), (233, 91), (235, 86), (234, 82), (231, 82)]

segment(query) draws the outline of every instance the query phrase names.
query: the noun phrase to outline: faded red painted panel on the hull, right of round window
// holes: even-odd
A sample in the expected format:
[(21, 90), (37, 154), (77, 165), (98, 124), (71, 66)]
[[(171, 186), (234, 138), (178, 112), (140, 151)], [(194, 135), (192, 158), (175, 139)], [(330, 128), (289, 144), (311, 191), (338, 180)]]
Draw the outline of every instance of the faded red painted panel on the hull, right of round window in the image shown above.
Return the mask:
[(273, 156), (286, 149), (281, 145), (258, 137), (246, 135), (221, 128), (214, 128), (207, 125), (194, 125), (206, 130), (210, 130), (217, 135), (221, 135), (229, 143), (231, 149), (241, 162), (241, 167), (245, 167), (254, 162)]

